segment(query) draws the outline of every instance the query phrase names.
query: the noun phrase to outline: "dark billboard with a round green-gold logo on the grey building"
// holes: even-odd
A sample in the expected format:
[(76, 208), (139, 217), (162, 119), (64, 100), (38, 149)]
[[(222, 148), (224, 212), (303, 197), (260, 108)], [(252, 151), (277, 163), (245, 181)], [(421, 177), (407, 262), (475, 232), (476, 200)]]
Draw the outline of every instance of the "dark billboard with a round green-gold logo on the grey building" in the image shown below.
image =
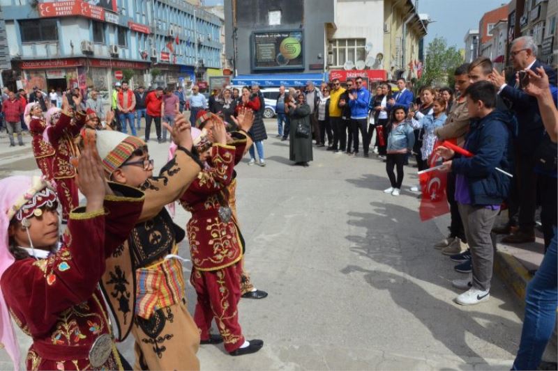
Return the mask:
[(252, 70), (304, 68), (303, 33), (266, 31), (252, 33)]

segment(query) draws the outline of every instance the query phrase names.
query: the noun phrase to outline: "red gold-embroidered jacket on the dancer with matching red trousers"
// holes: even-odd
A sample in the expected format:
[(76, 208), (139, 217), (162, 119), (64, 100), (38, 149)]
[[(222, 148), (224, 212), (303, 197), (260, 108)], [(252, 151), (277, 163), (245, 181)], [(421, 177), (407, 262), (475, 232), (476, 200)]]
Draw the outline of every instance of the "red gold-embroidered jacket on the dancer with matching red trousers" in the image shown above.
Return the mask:
[(226, 188), (232, 182), (235, 152), (232, 145), (214, 144), (211, 167), (199, 173), (179, 201), (192, 213), (186, 232), (192, 263), (200, 271), (222, 269), (242, 258), (232, 215), (223, 216), (223, 207), (228, 207)]

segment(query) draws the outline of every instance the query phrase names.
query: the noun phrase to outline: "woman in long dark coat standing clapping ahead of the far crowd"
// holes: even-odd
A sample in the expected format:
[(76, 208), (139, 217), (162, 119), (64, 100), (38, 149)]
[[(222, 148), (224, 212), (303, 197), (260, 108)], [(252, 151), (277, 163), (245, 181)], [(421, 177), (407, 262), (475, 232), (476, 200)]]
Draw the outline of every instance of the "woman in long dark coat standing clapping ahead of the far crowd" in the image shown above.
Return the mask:
[(306, 96), (299, 94), (296, 103), (290, 102), (287, 115), (291, 119), (291, 136), (289, 142), (289, 159), (295, 165), (309, 166), (312, 161), (312, 124), (310, 123), (310, 106), (305, 102)]

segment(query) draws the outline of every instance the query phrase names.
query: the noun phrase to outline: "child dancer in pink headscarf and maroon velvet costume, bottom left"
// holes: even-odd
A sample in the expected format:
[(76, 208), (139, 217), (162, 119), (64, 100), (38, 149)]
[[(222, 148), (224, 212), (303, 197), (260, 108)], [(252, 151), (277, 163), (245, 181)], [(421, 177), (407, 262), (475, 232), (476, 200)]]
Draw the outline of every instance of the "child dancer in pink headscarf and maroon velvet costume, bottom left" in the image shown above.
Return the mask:
[(59, 250), (58, 200), (50, 184), (39, 177), (0, 180), (1, 342), (15, 370), (20, 354), (10, 315), (33, 338), (28, 370), (123, 370), (97, 283), (144, 196), (107, 184), (93, 143), (78, 168), (86, 206), (70, 213), (70, 239)]

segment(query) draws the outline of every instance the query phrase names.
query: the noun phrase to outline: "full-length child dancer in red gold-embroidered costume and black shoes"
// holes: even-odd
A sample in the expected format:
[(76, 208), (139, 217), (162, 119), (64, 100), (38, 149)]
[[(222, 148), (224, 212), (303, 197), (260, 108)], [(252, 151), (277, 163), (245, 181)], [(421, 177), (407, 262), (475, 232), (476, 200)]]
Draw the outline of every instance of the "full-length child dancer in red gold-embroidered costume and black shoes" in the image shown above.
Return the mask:
[[(243, 243), (227, 194), (236, 148), (227, 145), (225, 124), (218, 116), (212, 115), (209, 123), (213, 145), (201, 155), (208, 166), (180, 199), (181, 205), (192, 213), (186, 228), (193, 262), (190, 282), (197, 293), (194, 320), (201, 331), (202, 344), (224, 341), (229, 354), (240, 356), (257, 352), (264, 342), (247, 341), (238, 322)], [(239, 157), (245, 149), (239, 148)], [(209, 333), (213, 318), (222, 338)]]

